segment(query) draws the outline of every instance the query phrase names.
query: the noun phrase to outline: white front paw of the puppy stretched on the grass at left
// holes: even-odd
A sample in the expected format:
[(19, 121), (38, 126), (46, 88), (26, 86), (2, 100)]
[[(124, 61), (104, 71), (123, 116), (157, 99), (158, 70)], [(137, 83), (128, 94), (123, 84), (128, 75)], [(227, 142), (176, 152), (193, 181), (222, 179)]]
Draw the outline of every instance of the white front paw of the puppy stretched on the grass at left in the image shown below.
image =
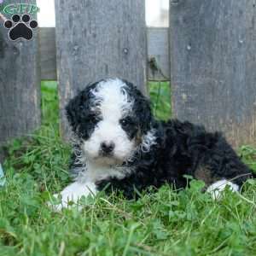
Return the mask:
[[(81, 206), (78, 205), (79, 200), (82, 196), (96, 195), (96, 185), (95, 183), (79, 183), (75, 182), (67, 186), (67, 188), (61, 191), (61, 203), (54, 205), (49, 202), (49, 205), (53, 207), (54, 211), (59, 212), (63, 208), (77, 206), (78, 209), (81, 209)], [(58, 200), (59, 195), (53, 195), (56, 200)]]

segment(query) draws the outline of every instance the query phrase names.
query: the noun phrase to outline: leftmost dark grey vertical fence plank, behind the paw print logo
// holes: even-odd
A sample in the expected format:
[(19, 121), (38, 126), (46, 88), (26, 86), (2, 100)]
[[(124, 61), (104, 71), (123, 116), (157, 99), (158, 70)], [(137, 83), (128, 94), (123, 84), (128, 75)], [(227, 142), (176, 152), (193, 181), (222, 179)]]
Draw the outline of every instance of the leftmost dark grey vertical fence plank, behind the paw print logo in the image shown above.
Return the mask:
[(12, 42), (3, 20), (0, 23), (0, 144), (3, 144), (30, 134), (40, 124), (40, 80), (37, 30), (31, 41)]

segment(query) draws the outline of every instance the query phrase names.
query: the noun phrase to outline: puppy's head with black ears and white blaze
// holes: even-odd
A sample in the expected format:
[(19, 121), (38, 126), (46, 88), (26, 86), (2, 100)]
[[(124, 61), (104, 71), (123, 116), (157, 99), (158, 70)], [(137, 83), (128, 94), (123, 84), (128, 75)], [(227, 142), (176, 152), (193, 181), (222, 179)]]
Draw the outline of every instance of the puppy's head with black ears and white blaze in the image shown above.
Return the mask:
[(68, 103), (67, 119), (86, 157), (98, 164), (119, 166), (155, 143), (149, 102), (124, 80), (88, 85)]

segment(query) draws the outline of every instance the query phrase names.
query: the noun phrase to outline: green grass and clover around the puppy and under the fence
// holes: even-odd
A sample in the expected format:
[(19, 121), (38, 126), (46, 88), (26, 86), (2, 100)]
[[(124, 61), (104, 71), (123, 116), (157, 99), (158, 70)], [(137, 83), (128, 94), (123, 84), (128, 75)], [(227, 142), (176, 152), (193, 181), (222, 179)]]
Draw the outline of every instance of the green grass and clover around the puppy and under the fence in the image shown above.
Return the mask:
[[(158, 84), (151, 84), (157, 99)], [(75, 208), (51, 212), (46, 202), (68, 182), (70, 147), (61, 142), (55, 83), (42, 84), (43, 125), (9, 145), (0, 189), (0, 255), (256, 255), (256, 183), (245, 192), (227, 191), (221, 201), (201, 193), (203, 184), (177, 193), (167, 185), (157, 193), (127, 201), (98, 195)], [(158, 118), (171, 114), (167, 84), (161, 88)], [(162, 97), (163, 96), (163, 97)], [(242, 147), (256, 170), (256, 150)], [(189, 182), (189, 178), (188, 178)]]

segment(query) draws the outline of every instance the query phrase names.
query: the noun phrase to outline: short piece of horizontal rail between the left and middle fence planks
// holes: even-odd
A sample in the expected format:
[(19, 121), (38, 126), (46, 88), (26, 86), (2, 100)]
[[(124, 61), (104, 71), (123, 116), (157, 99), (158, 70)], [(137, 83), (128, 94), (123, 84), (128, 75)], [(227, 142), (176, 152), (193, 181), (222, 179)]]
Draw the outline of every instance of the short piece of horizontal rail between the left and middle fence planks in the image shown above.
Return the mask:
[(56, 80), (55, 27), (39, 29), (41, 80)]

